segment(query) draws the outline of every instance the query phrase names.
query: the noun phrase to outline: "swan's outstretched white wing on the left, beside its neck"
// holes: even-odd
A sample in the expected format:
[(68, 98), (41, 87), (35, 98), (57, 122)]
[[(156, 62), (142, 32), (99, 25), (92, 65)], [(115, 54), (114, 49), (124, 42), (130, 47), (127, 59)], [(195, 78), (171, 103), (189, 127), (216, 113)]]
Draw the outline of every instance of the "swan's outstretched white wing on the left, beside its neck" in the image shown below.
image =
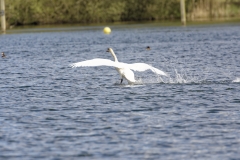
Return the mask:
[(116, 63), (109, 60), (109, 59), (91, 59), (87, 61), (82, 61), (82, 62), (77, 62), (70, 64), (70, 67), (94, 67), (94, 66), (111, 66), (111, 67), (116, 67)]

